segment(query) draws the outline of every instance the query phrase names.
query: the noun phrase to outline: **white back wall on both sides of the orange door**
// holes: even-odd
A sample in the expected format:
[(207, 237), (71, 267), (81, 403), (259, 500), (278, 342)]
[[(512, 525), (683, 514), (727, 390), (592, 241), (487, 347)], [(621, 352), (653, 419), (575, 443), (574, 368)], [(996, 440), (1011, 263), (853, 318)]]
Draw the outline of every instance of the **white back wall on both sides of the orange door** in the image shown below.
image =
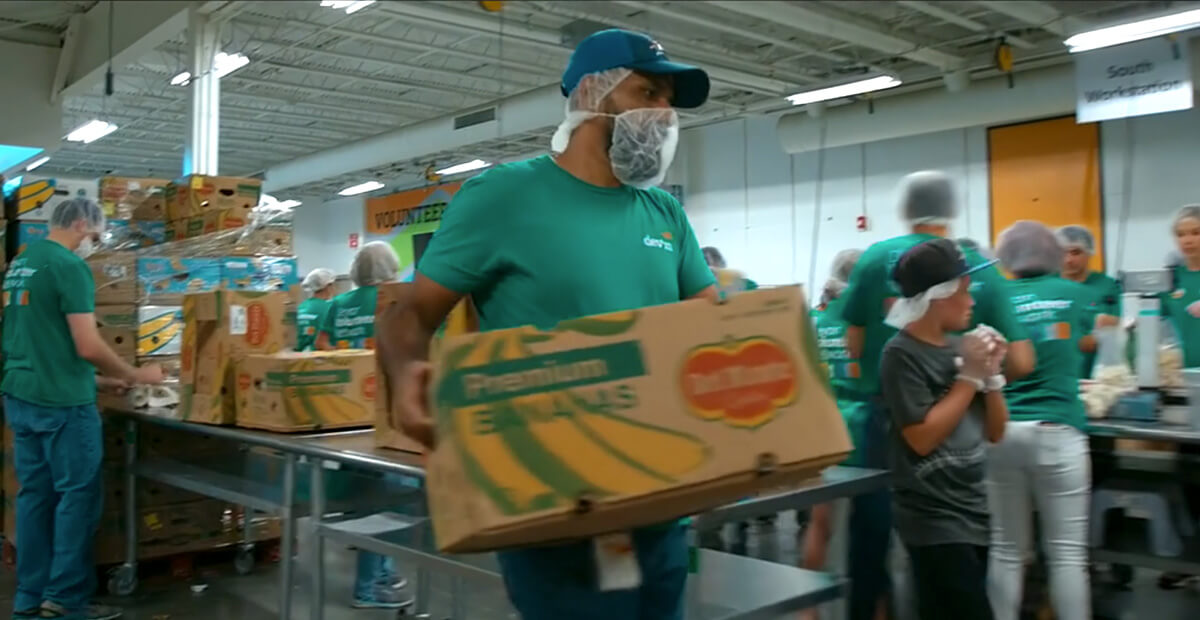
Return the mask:
[[(751, 278), (820, 285), (839, 251), (902, 234), (895, 187), (922, 169), (959, 180), (966, 209), (954, 235), (988, 245), (986, 127), (790, 156), (775, 122), (742, 119), (685, 131), (672, 175), (684, 186), (701, 245), (719, 247)], [(1100, 137), (1108, 269), (1160, 266), (1170, 249), (1171, 215), (1200, 203), (1200, 112), (1105, 122)], [(859, 215), (868, 216), (866, 231), (854, 227)]]

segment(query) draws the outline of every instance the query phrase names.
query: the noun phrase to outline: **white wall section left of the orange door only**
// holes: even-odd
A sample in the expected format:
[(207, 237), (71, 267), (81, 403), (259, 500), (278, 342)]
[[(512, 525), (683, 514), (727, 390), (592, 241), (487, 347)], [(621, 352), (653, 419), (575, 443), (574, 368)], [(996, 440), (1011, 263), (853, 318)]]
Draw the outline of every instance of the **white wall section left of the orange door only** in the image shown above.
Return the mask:
[[(983, 128), (842, 146), (788, 156), (774, 118), (684, 132), (685, 207), (701, 245), (763, 284), (822, 283), (839, 251), (900, 230), (895, 186), (913, 170), (959, 180), (967, 205), (955, 231), (986, 241), (986, 138)], [(868, 217), (868, 230), (856, 228)]]

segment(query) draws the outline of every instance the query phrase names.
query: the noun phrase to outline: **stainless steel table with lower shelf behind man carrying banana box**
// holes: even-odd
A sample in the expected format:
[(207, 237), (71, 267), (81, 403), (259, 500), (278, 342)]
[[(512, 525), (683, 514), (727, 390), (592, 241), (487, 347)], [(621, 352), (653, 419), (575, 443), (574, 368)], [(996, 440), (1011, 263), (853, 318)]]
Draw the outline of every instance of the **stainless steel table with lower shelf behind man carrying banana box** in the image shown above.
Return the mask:
[[(323, 616), (324, 543), (353, 546), (395, 556), (415, 567), (415, 613), (428, 612), (430, 585), (434, 577), (450, 579), (451, 618), (467, 618), (467, 582), (499, 584), (494, 554), (443, 554), (433, 542), (425, 507), (425, 469), (419, 455), (377, 447), (373, 429), (284, 434), (229, 426), (193, 423), (176, 409), (108, 409), (110, 425), (125, 428), (125, 518), (127, 555), (113, 571), (109, 589), (130, 594), (137, 589), (138, 480), (179, 487), (236, 504), (251, 511), (277, 516), (282, 526), (280, 553), (280, 618), (292, 618), (294, 541), (296, 519), (310, 516), (312, 548), (311, 618)], [(192, 464), (170, 456), (143, 457), (139, 437), (156, 428), (186, 432), (196, 443), (241, 446), (253, 455), (270, 455), (272, 465), (253, 475), (211, 464)], [(344, 468), (403, 480), (388, 493), (330, 493), (326, 471)], [(245, 470), (242, 470), (245, 471)], [(804, 510), (815, 504), (866, 493), (888, 484), (888, 474), (859, 468), (832, 466), (818, 480), (787, 490), (763, 494), (694, 518), (692, 528)], [(376, 487), (378, 488), (378, 487)], [(307, 498), (305, 498), (307, 495)], [(380, 496), (384, 495), (384, 496)], [(307, 501), (304, 501), (307, 499)], [(383, 501), (385, 505), (379, 505)], [(397, 511), (397, 507), (400, 510)], [(248, 520), (248, 517), (247, 517)], [(238, 567), (248, 571), (252, 543), (244, 542)], [(250, 560), (247, 560), (248, 558)], [(700, 549), (697, 572), (689, 579), (689, 619), (776, 618), (836, 600), (846, 582), (834, 574), (805, 571), (751, 558)]]

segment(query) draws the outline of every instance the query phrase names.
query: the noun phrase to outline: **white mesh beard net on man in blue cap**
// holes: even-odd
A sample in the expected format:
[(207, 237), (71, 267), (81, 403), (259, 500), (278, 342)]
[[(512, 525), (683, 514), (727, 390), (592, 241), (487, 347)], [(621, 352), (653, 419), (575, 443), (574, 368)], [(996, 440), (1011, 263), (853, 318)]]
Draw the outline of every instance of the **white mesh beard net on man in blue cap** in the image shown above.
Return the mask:
[(666, 179), (679, 145), (679, 115), (671, 108), (638, 108), (613, 116), (608, 162), (618, 181), (646, 189)]

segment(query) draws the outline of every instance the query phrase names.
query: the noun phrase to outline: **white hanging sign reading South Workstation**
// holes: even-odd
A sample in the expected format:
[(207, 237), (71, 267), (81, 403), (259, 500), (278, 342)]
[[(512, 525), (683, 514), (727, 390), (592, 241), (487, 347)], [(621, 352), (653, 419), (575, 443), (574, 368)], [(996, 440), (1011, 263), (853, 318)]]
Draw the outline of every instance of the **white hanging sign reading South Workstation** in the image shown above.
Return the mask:
[(1078, 122), (1192, 108), (1187, 40), (1147, 38), (1075, 54)]

